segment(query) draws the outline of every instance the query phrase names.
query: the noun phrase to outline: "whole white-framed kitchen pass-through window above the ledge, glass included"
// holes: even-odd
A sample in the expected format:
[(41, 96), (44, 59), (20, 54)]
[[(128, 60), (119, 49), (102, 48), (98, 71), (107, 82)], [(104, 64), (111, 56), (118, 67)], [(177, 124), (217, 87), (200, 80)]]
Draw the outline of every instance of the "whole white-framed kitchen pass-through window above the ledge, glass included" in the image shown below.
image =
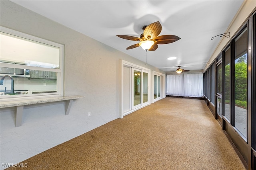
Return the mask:
[(62, 95), (63, 45), (1, 27), (0, 99)]

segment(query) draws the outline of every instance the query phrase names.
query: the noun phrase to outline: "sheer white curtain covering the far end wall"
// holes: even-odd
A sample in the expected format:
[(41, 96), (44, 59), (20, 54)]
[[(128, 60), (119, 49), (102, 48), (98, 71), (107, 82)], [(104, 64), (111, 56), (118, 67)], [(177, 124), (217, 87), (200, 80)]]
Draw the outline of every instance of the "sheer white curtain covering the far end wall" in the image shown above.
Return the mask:
[(167, 74), (166, 94), (171, 96), (203, 97), (203, 74), (201, 72)]

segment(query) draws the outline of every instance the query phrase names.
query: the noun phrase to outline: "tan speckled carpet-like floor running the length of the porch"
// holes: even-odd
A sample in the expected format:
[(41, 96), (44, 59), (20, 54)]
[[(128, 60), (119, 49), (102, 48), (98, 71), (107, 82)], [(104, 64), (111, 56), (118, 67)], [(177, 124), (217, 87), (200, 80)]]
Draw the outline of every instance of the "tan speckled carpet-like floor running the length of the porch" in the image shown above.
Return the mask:
[(246, 169), (203, 100), (171, 97), (23, 163), (35, 170)]

